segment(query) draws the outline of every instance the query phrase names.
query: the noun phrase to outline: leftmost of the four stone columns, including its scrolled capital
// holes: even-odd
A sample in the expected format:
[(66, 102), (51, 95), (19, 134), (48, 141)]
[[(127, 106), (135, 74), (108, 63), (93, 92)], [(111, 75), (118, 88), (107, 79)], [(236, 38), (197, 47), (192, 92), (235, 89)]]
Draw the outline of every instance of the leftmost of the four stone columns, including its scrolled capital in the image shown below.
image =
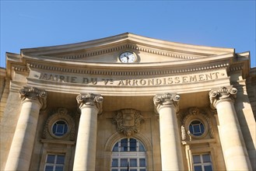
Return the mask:
[(46, 92), (34, 87), (19, 91), (22, 107), (5, 170), (29, 170), (39, 111), (46, 107)]

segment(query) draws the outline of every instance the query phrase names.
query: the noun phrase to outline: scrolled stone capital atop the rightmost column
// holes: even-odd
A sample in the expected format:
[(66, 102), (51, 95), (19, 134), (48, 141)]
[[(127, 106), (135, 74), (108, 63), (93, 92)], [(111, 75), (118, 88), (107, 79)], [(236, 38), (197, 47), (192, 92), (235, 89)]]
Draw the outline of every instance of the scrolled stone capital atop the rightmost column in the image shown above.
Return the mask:
[(229, 99), (232, 102), (234, 102), (234, 99), (236, 98), (237, 89), (230, 87), (220, 87), (219, 89), (212, 89), (209, 92), (209, 98), (211, 103), (211, 108), (216, 109), (216, 103), (219, 100)]

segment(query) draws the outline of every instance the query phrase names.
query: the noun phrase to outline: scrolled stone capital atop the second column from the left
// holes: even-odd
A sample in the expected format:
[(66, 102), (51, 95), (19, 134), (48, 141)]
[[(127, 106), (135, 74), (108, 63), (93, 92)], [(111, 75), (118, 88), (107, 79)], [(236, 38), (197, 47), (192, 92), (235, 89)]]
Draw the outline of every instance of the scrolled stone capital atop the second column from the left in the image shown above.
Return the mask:
[(103, 103), (103, 96), (100, 96), (99, 94), (93, 94), (93, 93), (85, 93), (85, 94), (79, 94), (79, 96), (76, 96), (76, 101), (79, 104), (79, 108), (81, 109), (82, 106), (96, 106), (96, 108), (99, 110), (99, 114), (102, 113), (102, 103)]

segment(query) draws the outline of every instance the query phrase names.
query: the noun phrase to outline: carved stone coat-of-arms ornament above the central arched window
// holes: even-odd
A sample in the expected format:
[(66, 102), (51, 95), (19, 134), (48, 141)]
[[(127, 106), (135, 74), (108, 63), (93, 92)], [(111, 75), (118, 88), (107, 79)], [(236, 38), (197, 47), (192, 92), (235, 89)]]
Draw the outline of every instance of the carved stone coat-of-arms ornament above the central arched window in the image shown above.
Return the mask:
[(117, 132), (122, 132), (127, 137), (139, 132), (143, 121), (142, 114), (133, 109), (118, 110), (113, 118), (114, 124), (117, 124)]

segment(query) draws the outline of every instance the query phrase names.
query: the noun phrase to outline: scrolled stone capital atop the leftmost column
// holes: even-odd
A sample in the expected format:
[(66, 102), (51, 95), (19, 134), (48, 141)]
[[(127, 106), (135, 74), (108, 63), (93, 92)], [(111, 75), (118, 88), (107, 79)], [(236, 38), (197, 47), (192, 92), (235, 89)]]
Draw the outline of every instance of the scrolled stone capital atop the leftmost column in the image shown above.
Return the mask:
[(43, 89), (24, 86), (19, 90), (19, 97), (22, 102), (26, 99), (38, 100), (41, 104), (41, 109), (44, 110), (46, 108), (47, 93)]

